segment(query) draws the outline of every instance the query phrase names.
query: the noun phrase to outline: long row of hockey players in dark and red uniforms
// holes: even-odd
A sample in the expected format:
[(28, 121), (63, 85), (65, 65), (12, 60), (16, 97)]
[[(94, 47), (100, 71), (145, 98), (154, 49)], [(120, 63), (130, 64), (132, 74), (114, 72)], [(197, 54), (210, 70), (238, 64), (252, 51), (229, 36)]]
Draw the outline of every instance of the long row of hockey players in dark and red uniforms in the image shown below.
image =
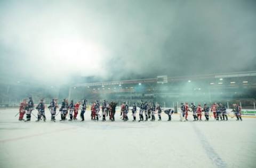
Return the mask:
[[(76, 104), (74, 104), (74, 101), (71, 100), (70, 104), (68, 103), (67, 99), (63, 99), (62, 103), (61, 103), (61, 107), (59, 112), (57, 113), (57, 108), (58, 103), (57, 103), (57, 99), (52, 99), (50, 105), (48, 106), (50, 112), (51, 112), (51, 121), (55, 122), (55, 116), (57, 116), (60, 113), (61, 116), (61, 120), (60, 121), (65, 121), (67, 115), (69, 114), (69, 121), (72, 120), (77, 120), (77, 114), (79, 109), (81, 109), (81, 121), (84, 121), (84, 113), (86, 111), (86, 103), (87, 100), (83, 100), (83, 102), (77, 102)], [(82, 107), (80, 107), (82, 104)], [(102, 106), (101, 106), (101, 110), (102, 110), (102, 121), (106, 121), (106, 116), (109, 116), (109, 120), (111, 121), (115, 121), (115, 113), (116, 113), (116, 105), (117, 103), (115, 102), (106, 102), (106, 100), (103, 100)], [(34, 102), (33, 99), (31, 97), (29, 97), (29, 101), (27, 103), (27, 100), (24, 99), (23, 102), (20, 104), (20, 108), (19, 108), (19, 120), (20, 121), (30, 121), (31, 120), (31, 114), (32, 111), (35, 109), (34, 107)], [(45, 116), (45, 104), (44, 104), (44, 100), (41, 99), (39, 104), (36, 106), (36, 110), (38, 111), (37, 116), (34, 116), (37, 118), (37, 122), (40, 120), (45, 121), (46, 120), (46, 116)], [(68, 112), (69, 111), (69, 112)], [(139, 110), (139, 122), (140, 121), (148, 121), (148, 119), (151, 118), (150, 121), (155, 121), (155, 114), (158, 115), (158, 121), (161, 121), (161, 114), (162, 111), (168, 115), (169, 119), (167, 121), (171, 121), (172, 120), (172, 114), (173, 114), (173, 109), (169, 108), (167, 110), (163, 110), (162, 106), (160, 104), (157, 104), (157, 106), (155, 105), (154, 102), (143, 102), (141, 100), (140, 103), (140, 110)], [(209, 121), (209, 116), (210, 116), (210, 111), (213, 113), (214, 119), (215, 120), (228, 120), (228, 115), (227, 115), (227, 110), (226, 107), (221, 104), (221, 103), (214, 103), (212, 104), (211, 108), (209, 106), (207, 106), (207, 104), (204, 104), (203, 107), (201, 107), (201, 104), (198, 104), (198, 106), (195, 106), (193, 103), (191, 103), (191, 105), (189, 106), (188, 103), (181, 103), (181, 107), (180, 107), (180, 121), (188, 121), (187, 117), (188, 117), (188, 112), (192, 112), (193, 113), (193, 117), (194, 117), (194, 121), (202, 121), (202, 114), (204, 112), (204, 116), (205, 116), (205, 121)], [(241, 120), (242, 121), (242, 117), (241, 117), (241, 107), (238, 106), (238, 104), (234, 104), (233, 105), (233, 112), (237, 118), (237, 120)], [(27, 120), (23, 120), (23, 116), (26, 113), (26, 117)], [(121, 105), (121, 118), (124, 121), (128, 121), (128, 114), (129, 113), (129, 106), (124, 102)], [(137, 113), (137, 106), (134, 103), (132, 106), (132, 116), (133, 116), (133, 121), (136, 121), (136, 113)], [(145, 120), (144, 120), (144, 116), (143, 113), (145, 115)], [(17, 114), (17, 115), (18, 115)], [(100, 115), (100, 104), (99, 101), (96, 100), (95, 102), (92, 103), (91, 105), (91, 120), (94, 121), (99, 121), (99, 117), (101, 117)]]

